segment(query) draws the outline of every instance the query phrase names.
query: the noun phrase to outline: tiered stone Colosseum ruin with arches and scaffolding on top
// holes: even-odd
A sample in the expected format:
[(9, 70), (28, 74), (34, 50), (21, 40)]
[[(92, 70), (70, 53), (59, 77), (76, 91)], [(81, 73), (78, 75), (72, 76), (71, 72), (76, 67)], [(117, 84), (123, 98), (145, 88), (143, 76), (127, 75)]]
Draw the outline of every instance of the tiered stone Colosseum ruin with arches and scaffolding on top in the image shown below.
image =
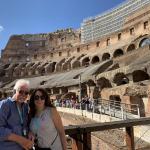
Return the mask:
[(19, 78), (51, 99), (87, 96), (150, 108), (150, 0), (129, 0), (79, 29), (12, 35), (0, 59), (1, 92)]

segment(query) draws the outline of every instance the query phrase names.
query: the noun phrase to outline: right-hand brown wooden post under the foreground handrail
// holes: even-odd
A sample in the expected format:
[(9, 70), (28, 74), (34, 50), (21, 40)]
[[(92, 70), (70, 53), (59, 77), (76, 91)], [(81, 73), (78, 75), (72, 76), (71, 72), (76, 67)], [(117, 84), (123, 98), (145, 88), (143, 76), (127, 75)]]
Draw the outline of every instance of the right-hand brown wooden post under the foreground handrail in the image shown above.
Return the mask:
[(127, 150), (135, 150), (133, 127), (126, 127)]

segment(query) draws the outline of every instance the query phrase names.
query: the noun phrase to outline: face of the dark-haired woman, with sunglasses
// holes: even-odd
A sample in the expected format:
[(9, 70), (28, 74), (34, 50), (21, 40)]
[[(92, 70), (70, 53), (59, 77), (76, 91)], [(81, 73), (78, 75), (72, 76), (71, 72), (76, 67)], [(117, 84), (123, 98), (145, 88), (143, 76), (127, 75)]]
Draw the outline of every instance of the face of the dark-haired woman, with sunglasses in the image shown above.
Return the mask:
[(41, 91), (36, 91), (34, 95), (34, 104), (37, 109), (42, 109), (45, 106), (45, 95)]

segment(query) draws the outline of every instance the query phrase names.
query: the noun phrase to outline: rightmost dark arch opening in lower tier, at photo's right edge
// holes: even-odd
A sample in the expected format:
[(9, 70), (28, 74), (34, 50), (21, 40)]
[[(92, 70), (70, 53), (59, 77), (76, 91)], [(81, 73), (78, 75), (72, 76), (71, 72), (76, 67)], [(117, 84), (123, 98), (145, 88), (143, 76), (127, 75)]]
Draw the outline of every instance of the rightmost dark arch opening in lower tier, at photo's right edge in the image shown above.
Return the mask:
[(149, 79), (149, 75), (146, 72), (144, 72), (143, 70), (133, 71), (132, 76), (133, 76), (133, 82), (139, 82), (139, 81)]

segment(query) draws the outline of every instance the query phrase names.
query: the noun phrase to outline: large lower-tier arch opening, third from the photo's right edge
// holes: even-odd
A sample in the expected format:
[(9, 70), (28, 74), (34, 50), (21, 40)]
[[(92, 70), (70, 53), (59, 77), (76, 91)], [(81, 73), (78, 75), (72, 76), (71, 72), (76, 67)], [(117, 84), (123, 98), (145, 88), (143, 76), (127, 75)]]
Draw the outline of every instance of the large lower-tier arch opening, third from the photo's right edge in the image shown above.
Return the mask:
[(99, 78), (97, 80), (97, 85), (98, 85), (98, 87), (100, 87), (101, 90), (103, 88), (111, 88), (112, 87), (110, 81), (108, 79), (106, 79), (105, 77)]

